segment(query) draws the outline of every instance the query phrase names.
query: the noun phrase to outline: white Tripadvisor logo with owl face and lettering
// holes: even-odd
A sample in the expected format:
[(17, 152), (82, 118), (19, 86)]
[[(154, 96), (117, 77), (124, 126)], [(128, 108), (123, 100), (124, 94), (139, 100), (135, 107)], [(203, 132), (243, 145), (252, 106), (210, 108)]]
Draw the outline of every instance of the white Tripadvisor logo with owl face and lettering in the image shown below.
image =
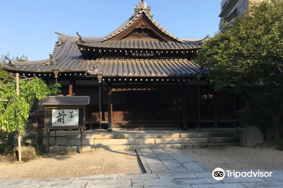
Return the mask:
[(223, 180), (225, 177), (225, 172), (227, 173), (227, 177), (271, 177), (272, 172), (270, 171), (260, 171), (260, 170), (250, 170), (250, 171), (242, 171), (238, 172), (235, 170), (223, 170), (222, 168), (216, 168), (212, 171), (212, 177), (215, 180)]

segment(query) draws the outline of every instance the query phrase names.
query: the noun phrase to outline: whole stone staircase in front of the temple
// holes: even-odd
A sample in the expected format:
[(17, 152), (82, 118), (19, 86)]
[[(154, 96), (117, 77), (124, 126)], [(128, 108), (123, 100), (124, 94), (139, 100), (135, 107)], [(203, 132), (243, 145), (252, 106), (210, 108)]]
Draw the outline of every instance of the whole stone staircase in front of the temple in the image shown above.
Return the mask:
[[(240, 137), (233, 133), (136, 133), (83, 134), (83, 152), (96, 150), (134, 150), (144, 148), (207, 148), (239, 145)], [(56, 140), (49, 152), (79, 152), (79, 133)]]

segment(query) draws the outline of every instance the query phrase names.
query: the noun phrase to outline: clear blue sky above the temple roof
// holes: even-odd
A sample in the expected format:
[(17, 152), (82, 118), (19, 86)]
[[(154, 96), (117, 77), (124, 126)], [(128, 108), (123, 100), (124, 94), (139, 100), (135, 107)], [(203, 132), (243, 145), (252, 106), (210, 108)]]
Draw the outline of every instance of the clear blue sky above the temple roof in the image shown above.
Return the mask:
[[(140, 0), (2, 1), (0, 55), (48, 59), (59, 33), (104, 37), (134, 13)], [(202, 39), (218, 30), (221, 0), (144, 0), (153, 18), (179, 38)]]

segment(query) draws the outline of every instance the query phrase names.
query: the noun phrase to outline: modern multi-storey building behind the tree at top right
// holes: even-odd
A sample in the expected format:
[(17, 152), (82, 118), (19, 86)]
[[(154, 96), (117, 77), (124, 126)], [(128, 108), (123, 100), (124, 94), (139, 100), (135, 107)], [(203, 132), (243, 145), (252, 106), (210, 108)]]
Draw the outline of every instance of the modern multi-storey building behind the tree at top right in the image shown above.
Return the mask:
[[(221, 2), (221, 13), (219, 14), (221, 24), (227, 22), (231, 24), (234, 18), (240, 16), (242, 13), (248, 14), (248, 4), (249, 2), (258, 2), (260, 0), (222, 0)], [(227, 18), (227, 20), (225, 20)]]

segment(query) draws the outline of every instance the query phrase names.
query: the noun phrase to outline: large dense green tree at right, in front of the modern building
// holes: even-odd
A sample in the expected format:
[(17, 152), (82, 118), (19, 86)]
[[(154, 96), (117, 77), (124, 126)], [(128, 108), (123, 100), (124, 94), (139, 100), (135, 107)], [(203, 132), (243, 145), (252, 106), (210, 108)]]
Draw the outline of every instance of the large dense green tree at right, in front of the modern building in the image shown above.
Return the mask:
[(209, 38), (197, 60), (210, 68), (216, 91), (244, 94), (272, 117), (275, 138), (283, 114), (283, 1), (249, 4), (249, 15)]

